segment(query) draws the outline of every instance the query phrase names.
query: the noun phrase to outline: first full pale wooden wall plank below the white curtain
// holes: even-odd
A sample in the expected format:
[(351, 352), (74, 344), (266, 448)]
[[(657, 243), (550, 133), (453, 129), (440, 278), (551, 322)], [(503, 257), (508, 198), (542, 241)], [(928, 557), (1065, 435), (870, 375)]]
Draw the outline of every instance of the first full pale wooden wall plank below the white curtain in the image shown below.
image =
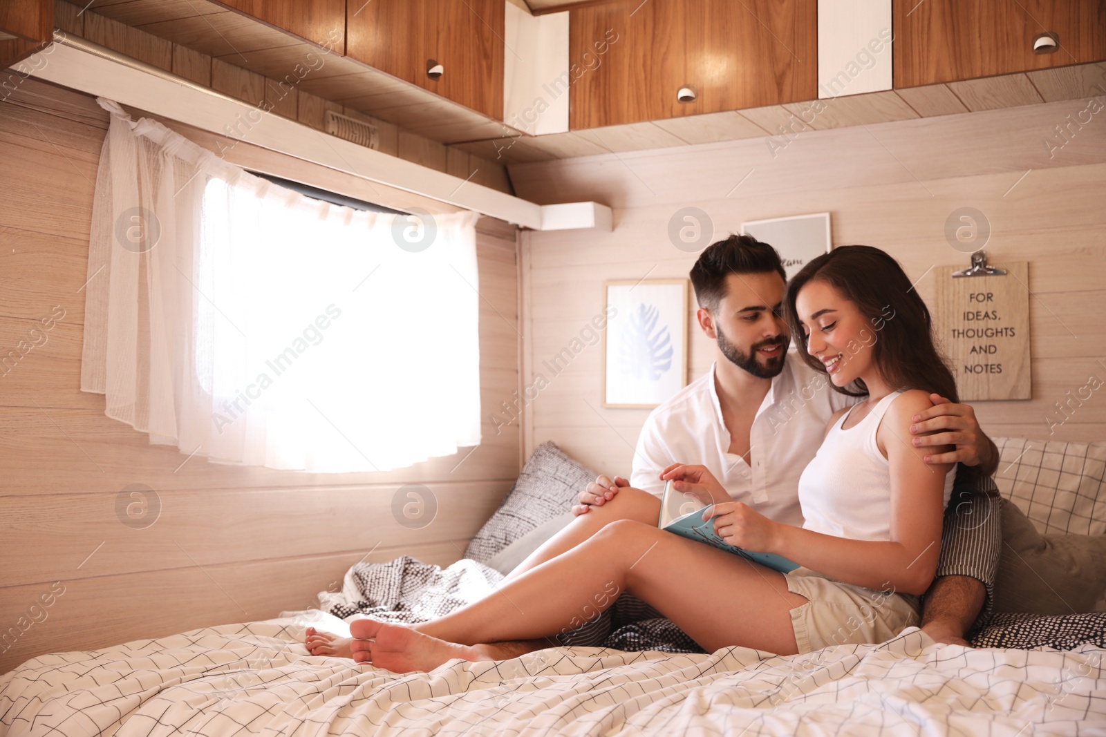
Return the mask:
[[(437, 512), (418, 528), (404, 527), (393, 516), (393, 498), (397, 494), (403, 498), (404, 494), (403, 485), (395, 484), (155, 489), (156, 502), (145, 507), (140, 497), (128, 493), (4, 497), (0, 522), (3, 545), (19, 550), (24, 561), (18, 570), (7, 571), (6, 583), (21, 586), (55, 578), (76, 580), (356, 550), (364, 554), (374, 547), (395, 549), (465, 540), (495, 510), (499, 499), (488, 493), (489, 488), (504, 495), (511, 483), (425, 484), (418, 491), (427, 496), (428, 504), (432, 495)], [(125, 512), (122, 518), (118, 514), (121, 496), (127, 504), (138, 504), (129, 517)], [(213, 499), (218, 499), (217, 515), (211, 514)], [(259, 510), (263, 512), (264, 525), (257, 524)], [(305, 530), (325, 530), (326, 535)], [(248, 534), (239, 534), (243, 531)]]

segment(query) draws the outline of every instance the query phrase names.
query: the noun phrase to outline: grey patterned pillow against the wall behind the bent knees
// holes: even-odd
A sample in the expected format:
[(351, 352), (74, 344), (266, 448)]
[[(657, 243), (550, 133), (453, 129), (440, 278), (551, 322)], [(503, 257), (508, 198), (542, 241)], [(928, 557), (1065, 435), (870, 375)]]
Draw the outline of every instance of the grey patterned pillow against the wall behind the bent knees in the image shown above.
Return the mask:
[(552, 440), (534, 449), (514, 487), (465, 550), (488, 562), (517, 539), (577, 504), (576, 496), (598, 474), (561, 452)]

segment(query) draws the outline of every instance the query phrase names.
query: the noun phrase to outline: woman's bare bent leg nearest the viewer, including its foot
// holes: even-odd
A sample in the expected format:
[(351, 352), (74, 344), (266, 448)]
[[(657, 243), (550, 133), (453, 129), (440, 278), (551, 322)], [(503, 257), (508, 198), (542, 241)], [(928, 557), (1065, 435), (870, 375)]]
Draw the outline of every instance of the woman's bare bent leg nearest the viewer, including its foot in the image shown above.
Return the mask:
[(782, 573), (651, 525), (619, 520), (440, 619), (411, 627), (353, 622), (354, 660), (395, 672), (429, 671), (453, 657), (488, 660), (478, 643), (573, 629), (623, 591), (658, 609), (708, 651), (737, 644), (797, 652), (790, 611), (806, 599), (787, 591)]

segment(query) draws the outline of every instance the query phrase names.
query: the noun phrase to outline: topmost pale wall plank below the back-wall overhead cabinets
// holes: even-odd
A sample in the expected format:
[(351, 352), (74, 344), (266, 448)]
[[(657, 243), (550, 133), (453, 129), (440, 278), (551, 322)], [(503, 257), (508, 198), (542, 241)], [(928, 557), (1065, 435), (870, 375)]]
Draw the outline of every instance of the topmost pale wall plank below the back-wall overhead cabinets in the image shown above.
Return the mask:
[[(1025, 183), (1048, 176), (1052, 169), (1102, 161), (1100, 127), (1084, 125), (1075, 135), (1070, 131), (1064, 137), (1056, 129), (1068, 125), (1066, 116), (1075, 119), (1087, 107), (1086, 99), (1073, 99), (855, 128), (799, 130), (789, 136), (628, 151), (605, 159), (520, 164), (511, 166), (510, 172), (519, 197), (542, 204), (566, 200), (596, 200), (614, 208), (697, 204), (701, 200), (695, 197), (698, 188), (688, 187), (691, 179), (721, 188), (707, 197), (734, 202), (749, 190), (782, 196), (773, 202), (785, 213), (792, 209), (790, 198), (797, 192), (890, 182), (917, 188), (925, 196), (919, 207), (940, 208), (946, 204), (942, 198), (972, 197), (972, 176), (1004, 173), (1010, 188), (1032, 169), (1003, 200), (1006, 207), (1025, 197)], [(1083, 119), (1087, 119), (1085, 113)], [(981, 135), (983, 131), (988, 135)], [(596, 167), (595, 160), (611, 166)], [(588, 176), (580, 177), (584, 170)], [(931, 180), (950, 181), (927, 191), (926, 182)], [(872, 192), (879, 197), (878, 187)], [(856, 204), (865, 207), (866, 202)], [(1060, 217), (1041, 215), (1050, 221)], [(1094, 215), (1086, 208), (1065, 208), (1063, 217)]]

